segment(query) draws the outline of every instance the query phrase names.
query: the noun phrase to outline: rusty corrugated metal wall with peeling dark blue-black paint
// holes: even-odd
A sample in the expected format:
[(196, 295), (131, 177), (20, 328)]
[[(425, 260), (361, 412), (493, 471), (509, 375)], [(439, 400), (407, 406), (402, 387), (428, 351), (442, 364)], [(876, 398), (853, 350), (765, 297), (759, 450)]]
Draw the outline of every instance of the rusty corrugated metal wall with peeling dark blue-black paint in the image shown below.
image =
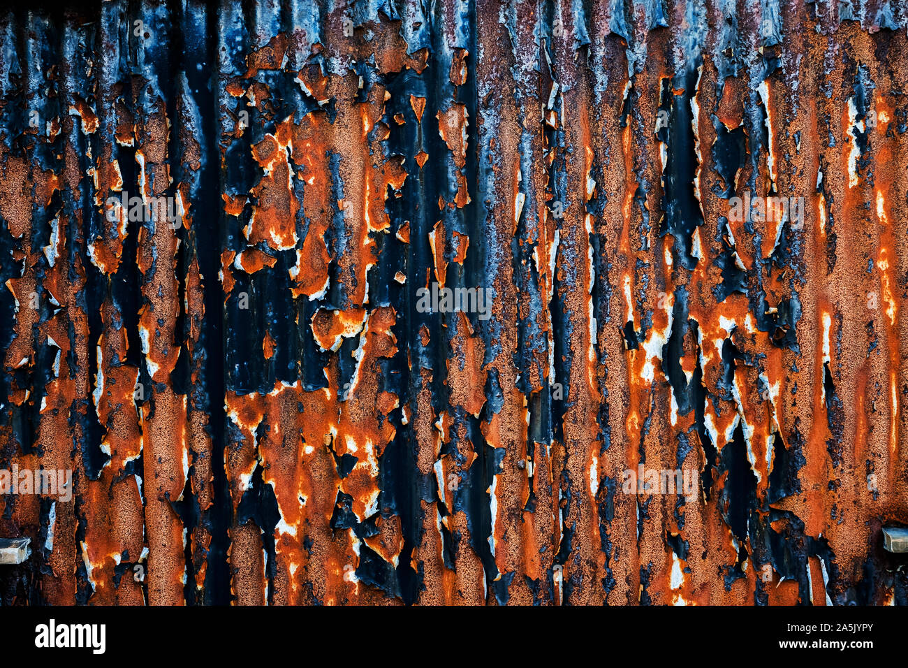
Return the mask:
[(3, 10), (5, 603), (908, 603), (906, 25)]

